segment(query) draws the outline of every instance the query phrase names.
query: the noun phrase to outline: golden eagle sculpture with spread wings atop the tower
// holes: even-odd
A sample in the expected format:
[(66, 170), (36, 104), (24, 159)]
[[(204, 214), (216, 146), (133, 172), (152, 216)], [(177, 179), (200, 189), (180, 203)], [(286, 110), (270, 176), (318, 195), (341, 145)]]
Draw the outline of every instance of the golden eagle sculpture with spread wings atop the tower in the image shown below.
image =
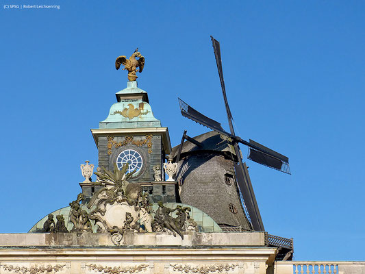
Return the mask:
[[(138, 60), (136, 59), (138, 58)], [(123, 64), (124, 69), (123, 71), (128, 71), (128, 80), (129, 81), (136, 81), (138, 76), (136, 75), (136, 72), (139, 69), (139, 72), (141, 73), (143, 71), (144, 66), (144, 57), (138, 52), (138, 48), (134, 53), (127, 59), (125, 55), (119, 56), (115, 60), (115, 68), (119, 69), (121, 67), (121, 64)]]

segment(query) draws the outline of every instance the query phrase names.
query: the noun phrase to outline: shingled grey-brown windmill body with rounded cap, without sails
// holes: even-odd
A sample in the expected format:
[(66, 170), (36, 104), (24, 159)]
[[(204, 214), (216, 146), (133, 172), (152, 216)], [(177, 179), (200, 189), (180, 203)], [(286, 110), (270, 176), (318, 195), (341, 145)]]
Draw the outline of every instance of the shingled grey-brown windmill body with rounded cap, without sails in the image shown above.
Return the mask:
[(173, 149), (181, 202), (206, 212), (223, 230), (253, 230), (236, 186), (231, 142), (214, 131), (193, 140), (199, 145), (186, 141), (180, 153), (180, 146)]

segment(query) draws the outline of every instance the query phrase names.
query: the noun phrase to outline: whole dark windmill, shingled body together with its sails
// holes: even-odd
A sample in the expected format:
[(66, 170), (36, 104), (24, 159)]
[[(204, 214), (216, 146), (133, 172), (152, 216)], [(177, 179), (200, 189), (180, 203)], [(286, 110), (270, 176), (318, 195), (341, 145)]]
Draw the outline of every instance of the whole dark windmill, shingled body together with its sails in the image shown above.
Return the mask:
[(181, 144), (173, 149), (179, 164), (177, 180), (181, 185), (181, 201), (204, 209), (224, 229), (264, 231), (247, 165), (242, 162), (238, 144), (249, 147), (250, 160), (288, 174), (289, 160), (253, 140), (247, 142), (236, 136), (225, 92), (220, 45), (213, 37), (212, 43), (230, 133), (225, 132), (220, 123), (179, 99), (183, 116), (213, 129), (213, 132), (194, 138), (184, 132)]

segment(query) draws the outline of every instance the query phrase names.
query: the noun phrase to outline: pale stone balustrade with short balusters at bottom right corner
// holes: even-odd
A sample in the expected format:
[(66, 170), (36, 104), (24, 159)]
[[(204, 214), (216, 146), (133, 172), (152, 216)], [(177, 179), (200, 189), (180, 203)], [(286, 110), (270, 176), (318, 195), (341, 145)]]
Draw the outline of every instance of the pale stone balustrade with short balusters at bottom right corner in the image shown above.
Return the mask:
[(275, 274), (365, 273), (365, 262), (285, 261), (275, 262)]

